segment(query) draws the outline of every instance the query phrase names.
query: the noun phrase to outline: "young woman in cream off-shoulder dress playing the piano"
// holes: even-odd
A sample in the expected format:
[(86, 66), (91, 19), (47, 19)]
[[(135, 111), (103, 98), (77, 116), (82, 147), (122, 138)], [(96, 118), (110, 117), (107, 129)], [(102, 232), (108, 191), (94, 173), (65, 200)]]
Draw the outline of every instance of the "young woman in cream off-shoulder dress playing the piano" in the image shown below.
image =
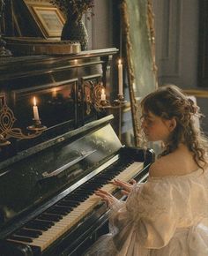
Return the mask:
[(175, 86), (160, 87), (141, 102), (142, 128), (164, 151), (145, 184), (115, 180), (129, 196), (96, 194), (111, 208), (108, 235), (85, 255), (207, 256), (208, 167), (206, 139), (195, 127), (197, 105)]

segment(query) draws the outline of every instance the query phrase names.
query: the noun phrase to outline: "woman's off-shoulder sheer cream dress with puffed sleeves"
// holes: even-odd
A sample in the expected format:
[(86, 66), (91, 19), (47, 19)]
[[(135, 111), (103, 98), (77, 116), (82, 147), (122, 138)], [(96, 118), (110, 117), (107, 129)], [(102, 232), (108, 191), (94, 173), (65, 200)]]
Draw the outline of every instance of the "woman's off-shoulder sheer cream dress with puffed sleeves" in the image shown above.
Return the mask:
[(208, 169), (135, 185), (109, 230), (85, 256), (208, 256)]

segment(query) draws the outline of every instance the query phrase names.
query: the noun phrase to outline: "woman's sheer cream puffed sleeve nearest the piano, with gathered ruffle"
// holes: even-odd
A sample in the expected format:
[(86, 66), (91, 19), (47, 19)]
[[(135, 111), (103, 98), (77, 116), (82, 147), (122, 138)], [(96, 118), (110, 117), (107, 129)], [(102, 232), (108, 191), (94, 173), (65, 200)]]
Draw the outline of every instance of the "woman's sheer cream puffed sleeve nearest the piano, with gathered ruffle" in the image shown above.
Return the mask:
[(135, 185), (126, 203), (113, 206), (110, 215), (117, 248), (126, 241), (148, 249), (167, 245), (178, 220), (175, 200), (177, 193), (167, 182), (148, 181)]

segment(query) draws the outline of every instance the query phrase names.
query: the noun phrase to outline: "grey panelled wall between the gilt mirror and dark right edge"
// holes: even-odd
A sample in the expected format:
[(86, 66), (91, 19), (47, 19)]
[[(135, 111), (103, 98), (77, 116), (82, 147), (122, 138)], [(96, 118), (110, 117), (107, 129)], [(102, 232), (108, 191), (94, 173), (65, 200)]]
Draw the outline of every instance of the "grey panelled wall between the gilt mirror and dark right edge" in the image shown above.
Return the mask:
[(197, 0), (152, 0), (159, 84), (197, 87)]

